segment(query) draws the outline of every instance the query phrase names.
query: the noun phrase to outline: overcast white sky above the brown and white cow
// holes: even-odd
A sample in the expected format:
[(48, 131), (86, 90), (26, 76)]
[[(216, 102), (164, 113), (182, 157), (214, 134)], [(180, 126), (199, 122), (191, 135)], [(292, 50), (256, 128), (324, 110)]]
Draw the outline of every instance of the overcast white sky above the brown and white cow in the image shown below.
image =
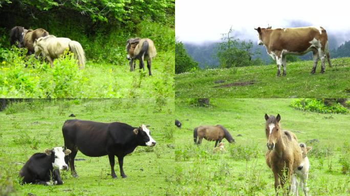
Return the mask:
[(257, 41), (256, 27), (322, 26), (350, 39), (350, 2), (345, 0), (176, 0), (175, 32), (183, 42), (217, 41), (230, 27), (239, 39)]

